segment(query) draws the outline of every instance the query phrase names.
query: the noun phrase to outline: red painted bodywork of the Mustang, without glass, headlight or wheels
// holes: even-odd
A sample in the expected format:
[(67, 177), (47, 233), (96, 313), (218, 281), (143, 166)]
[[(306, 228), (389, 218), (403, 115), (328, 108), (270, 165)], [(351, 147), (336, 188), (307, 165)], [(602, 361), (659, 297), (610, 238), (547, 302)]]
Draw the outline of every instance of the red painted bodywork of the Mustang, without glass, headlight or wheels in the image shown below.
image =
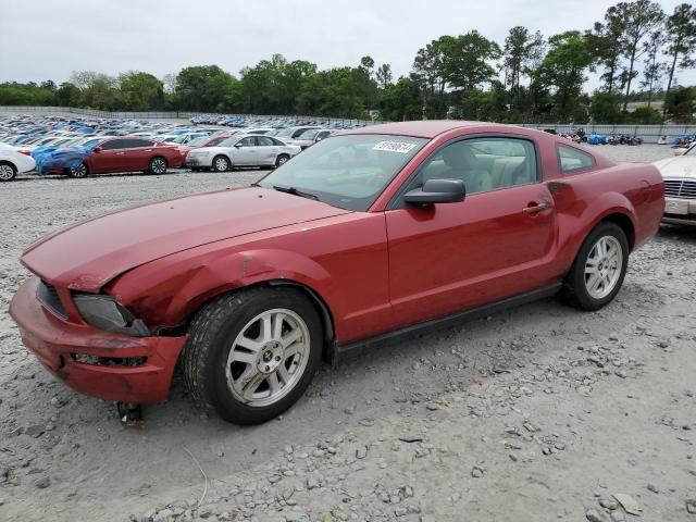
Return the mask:
[[(36, 279), (25, 283), (11, 304), (25, 345), (79, 391), (160, 401), (185, 338), (96, 331), (82, 321), (71, 289), (111, 294), (158, 330), (185, 323), (220, 293), (290, 281), (323, 300), (334, 341), (346, 344), (560, 282), (583, 239), (607, 215), (630, 220), (634, 248), (655, 234), (662, 216), (662, 179), (655, 167), (620, 164), (589, 151), (595, 167), (562, 175), (557, 144), (573, 145), (549, 134), (469, 122), (406, 122), (350, 133), (431, 141), (368, 212), (247, 188), (114, 212), (36, 243), (22, 262), (57, 287), (69, 318), (39, 304)], [(460, 203), (386, 210), (443, 144), (499, 134), (534, 140), (539, 183), (470, 195)], [(524, 211), (534, 204), (547, 208)], [(111, 357), (140, 350), (152, 362), (137, 371), (74, 361), (61, 370), (51, 365), (71, 350), (101, 355), (104, 343)]]

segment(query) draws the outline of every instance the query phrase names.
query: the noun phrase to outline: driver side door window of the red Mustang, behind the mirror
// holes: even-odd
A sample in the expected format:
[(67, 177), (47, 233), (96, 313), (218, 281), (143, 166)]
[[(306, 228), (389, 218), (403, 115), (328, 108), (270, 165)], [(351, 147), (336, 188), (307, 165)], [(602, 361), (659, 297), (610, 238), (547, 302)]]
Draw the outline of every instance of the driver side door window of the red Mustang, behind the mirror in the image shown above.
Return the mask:
[(518, 138), (472, 138), (449, 144), (427, 161), (427, 179), (461, 179), (467, 194), (487, 192), (537, 181), (534, 145)]

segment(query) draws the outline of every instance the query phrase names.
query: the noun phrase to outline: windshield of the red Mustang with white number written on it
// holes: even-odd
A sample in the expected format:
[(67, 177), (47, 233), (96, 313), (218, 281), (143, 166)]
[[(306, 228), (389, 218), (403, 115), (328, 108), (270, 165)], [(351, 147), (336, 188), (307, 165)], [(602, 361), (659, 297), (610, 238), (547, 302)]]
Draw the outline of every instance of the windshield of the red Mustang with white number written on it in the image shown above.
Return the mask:
[(410, 136), (336, 136), (308, 148), (259, 185), (293, 188), (333, 207), (364, 212), (426, 142)]

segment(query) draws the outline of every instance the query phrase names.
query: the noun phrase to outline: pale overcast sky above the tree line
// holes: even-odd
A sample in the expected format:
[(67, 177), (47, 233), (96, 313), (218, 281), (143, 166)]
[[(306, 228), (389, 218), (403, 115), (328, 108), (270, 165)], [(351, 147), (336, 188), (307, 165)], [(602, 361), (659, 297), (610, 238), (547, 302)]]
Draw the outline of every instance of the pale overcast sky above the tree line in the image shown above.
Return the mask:
[[(273, 53), (320, 69), (369, 54), (408, 74), (442, 35), (477, 29), (502, 45), (514, 25), (546, 37), (584, 30), (618, 0), (0, 0), (0, 82), (66, 80), (73, 71), (162, 77), (216, 64), (235, 76)], [(671, 13), (684, 0), (662, 0)], [(696, 71), (679, 74), (696, 84)], [(591, 75), (586, 88), (597, 87)]]

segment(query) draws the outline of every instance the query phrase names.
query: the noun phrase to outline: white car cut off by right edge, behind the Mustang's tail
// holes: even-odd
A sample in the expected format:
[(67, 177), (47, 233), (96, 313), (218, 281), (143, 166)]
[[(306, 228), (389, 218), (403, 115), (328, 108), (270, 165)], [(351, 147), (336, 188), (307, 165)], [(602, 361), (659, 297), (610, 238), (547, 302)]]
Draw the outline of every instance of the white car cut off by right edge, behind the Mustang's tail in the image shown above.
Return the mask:
[(696, 142), (679, 153), (654, 163), (664, 179), (662, 222), (696, 226)]

